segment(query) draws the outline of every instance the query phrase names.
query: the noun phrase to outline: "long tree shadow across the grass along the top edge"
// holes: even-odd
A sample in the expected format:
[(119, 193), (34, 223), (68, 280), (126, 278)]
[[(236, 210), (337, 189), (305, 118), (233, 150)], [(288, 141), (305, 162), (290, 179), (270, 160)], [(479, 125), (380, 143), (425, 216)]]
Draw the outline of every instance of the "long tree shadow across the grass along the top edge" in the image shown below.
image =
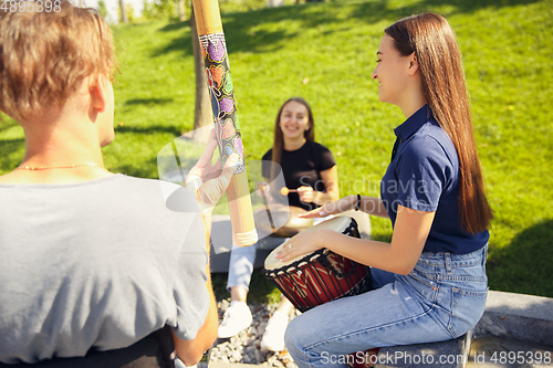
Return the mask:
[[(299, 38), (301, 32), (282, 29), (275, 31), (262, 29), (254, 31), (260, 25), (293, 21), (294, 23), (299, 23), (301, 29), (309, 30), (319, 28), (321, 24), (342, 24), (344, 22), (343, 18), (336, 17), (336, 14), (341, 12), (340, 9), (344, 6), (353, 8), (348, 18), (359, 23), (375, 24), (386, 21), (392, 24), (404, 17), (426, 11), (440, 12), (440, 9), (447, 9), (447, 12), (444, 14), (450, 17), (461, 13), (470, 14), (482, 9), (500, 9), (519, 4), (530, 4), (538, 1), (540, 0), (422, 0), (403, 7), (390, 4), (389, 0), (362, 1), (357, 3), (332, 1), (226, 13), (222, 14), (222, 23), (227, 43), (230, 45), (230, 52), (271, 53), (280, 50), (283, 41), (290, 42)], [(156, 50), (153, 56), (175, 51), (184, 52), (185, 55), (192, 54), (188, 21), (173, 22), (160, 29), (160, 32), (176, 30), (182, 30), (184, 35), (174, 39), (166, 48)], [(343, 28), (337, 27), (335, 30), (324, 31), (324, 34), (343, 31)]]

